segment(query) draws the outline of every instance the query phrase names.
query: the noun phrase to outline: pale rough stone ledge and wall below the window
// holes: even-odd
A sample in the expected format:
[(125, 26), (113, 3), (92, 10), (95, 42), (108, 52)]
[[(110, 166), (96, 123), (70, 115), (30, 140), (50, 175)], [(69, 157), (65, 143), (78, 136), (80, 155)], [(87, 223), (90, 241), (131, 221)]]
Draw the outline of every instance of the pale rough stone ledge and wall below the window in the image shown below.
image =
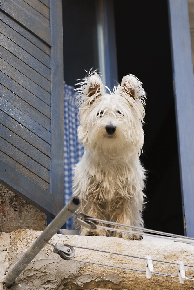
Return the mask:
[[(2, 233), (0, 241), (0, 290), (3, 287), (4, 272), (20, 258), (40, 231), (17, 230), (12, 233)], [(171, 262), (182, 260), (193, 265), (194, 247), (190, 244), (161, 240), (126, 241), (121, 238), (103, 236), (64, 236), (55, 235), (52, 243), (74, 244), (104, 249), (129, 255), (144, 257), (151, 255), (154, 259)], [(130, 290), (179, 290), (194, 289), (194, 281), (151, 274), (146, 278), (145, 273), (113, 269), (81, 262), (65, 261), (59, 255), (52, 253), (52, 246), (46, 245), (36, 258), (26, 267), (16, 279), (12, 290), (70, 290), (70, 289), (130, 289)], [(99, 263), (120, 265), (145, 270), (145, 260), (127, 258), (113, 254), (75, 248), (75, 258)], [(177, 265), (153, 262), (154, 271), (177, 275)], [(185, 267), (186, 276), (194, 277), (194, 268)]]

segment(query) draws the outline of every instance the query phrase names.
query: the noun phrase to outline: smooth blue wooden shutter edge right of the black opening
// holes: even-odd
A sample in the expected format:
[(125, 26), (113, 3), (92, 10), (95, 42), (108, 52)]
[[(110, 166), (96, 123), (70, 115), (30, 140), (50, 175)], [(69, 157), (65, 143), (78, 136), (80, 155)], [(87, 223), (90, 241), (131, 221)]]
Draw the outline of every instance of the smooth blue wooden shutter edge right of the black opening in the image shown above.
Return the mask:
[(185, 234), (194, 237), (194, 86), (187, 0), (168, 0)]

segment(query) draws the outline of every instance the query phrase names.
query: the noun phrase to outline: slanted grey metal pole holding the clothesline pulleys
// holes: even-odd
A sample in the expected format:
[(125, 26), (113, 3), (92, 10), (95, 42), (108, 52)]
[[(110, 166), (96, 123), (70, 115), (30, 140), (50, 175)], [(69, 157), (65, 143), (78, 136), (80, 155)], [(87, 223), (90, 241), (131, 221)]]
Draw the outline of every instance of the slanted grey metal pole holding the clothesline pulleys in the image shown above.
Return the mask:
[(81, 205), (79, 197), (72, 197), (70, 202), (58, 213), (54, 220), (47, 228), (39, 235), (30, 248), (23, 256), (14, 264), (10, 271), (5, 276), (5, 286), (10, 286), (26, 266), (35, 258), (46, 243), (57, 233), (78, 207)]

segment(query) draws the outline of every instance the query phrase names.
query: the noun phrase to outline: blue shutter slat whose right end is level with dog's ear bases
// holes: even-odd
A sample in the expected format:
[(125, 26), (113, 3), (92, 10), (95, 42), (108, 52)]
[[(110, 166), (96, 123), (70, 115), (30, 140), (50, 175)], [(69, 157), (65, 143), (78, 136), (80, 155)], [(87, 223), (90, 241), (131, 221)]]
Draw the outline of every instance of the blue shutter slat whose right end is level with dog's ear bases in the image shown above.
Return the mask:
[(24, 88), (26, 88), (26, 90), (31, 92), (36, 97), (39, 97), (40, 99), (42, 99), (44, 95), (49, 94), (43, 88), (35, 84), (33, 81), (28, 79), (28, 77), (26, 77), (18, 70), (16, 70), (13, 66), (4, 61), (2, 58), (0, 58), (0, 70), (2, 72), (6, 72), (6, 75), (8, 75), (8, 77), (16, 81), (18, 84), (21, 84)]

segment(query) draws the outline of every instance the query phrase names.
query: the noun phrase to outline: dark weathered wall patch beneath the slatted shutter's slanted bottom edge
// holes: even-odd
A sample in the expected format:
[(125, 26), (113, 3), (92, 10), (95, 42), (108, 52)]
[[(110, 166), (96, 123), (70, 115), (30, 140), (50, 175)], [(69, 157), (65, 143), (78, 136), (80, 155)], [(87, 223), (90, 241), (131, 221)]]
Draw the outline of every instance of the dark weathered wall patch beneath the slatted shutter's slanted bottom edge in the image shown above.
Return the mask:
[(17, 229), (43, 231), (46, 215), (0, 184), (0, 231)]

